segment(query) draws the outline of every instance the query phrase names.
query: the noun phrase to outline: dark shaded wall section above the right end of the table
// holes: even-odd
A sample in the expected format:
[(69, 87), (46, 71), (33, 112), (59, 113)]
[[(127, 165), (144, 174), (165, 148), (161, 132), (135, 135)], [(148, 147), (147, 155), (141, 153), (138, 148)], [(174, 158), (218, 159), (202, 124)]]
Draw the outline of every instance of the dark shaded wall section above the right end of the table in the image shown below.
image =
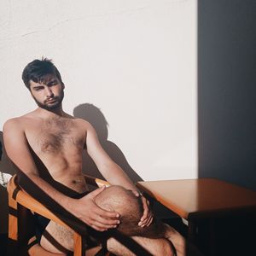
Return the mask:
[(199, 177), (256, 190), (256, 1), (198, 2)]

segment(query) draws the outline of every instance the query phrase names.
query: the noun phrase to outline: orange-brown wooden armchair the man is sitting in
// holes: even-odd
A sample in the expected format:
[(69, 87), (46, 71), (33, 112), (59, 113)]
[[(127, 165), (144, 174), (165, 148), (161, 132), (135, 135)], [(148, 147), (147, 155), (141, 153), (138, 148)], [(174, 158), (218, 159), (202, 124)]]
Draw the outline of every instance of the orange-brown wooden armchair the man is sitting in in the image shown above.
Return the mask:
[[(86, 183), (92, 186), (102, 187), (103, 185), (109, 186), (109, 183), (90, 176), (84, 176)], [(19, 188), (17, 184), (16, 175), (12, 177), (8, 184), (9, 193), (9, 241), (15, 244), (16, 252), (20, 253), (20, 250), (25, 247), (29, 239), (29, 234), (33, 229), (32, 212), (37, 212), (39, 215), (49, 218), (55, 221), (57, 224), (61, 224), (68, 229), (71, 229), (60, 218), (58, 218), (54, 212), (50, 212), (49, 209), (44, 207), (39, 201), (35, 200), (31, 195), (26, 194)], [(74, 232), (74, 256), (84, 255), (83, 248), (83, 236)], [(17, 254), (16, 254), (17, 255)]]

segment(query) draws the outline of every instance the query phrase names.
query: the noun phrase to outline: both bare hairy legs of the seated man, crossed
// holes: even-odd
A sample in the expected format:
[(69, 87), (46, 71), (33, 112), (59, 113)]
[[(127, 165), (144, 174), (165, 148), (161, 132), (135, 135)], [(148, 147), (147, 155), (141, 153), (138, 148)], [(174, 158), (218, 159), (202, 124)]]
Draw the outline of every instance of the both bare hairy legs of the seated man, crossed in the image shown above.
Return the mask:
[[(129, 196), (125, 198), (125, 195), (127, 195), (126, 192), (127, 190), (122, 187), (112, 186), (109, 189), (104, 190), (101, 193), (102, 196), (98, 195), (96, 197), (96, 204), (99, 207), (105, 208), (106, 210), (114, 209), (115, 211), (121, 214), (121, 217), (125, 216), (125, 214), (127, 215), (127, 212), (128, 212), (129, 221), (126, 222), (126, 227), (125, 227), (125, 218), (123, 218), (121, 220), (123, 221), (123, 224), (122, 226), (120, 225), (121, 226), (120, 230), (125, 232), (127, 231), (128, 233), (131, 231), (130, 233), (133, 233), (133, 234), (136, 234), (137, 232), (139, 232), (140, 234), (137, 234), (137, 235), (130, 234), (128, 236), (132, 236), (131, 239), (133, 241), (136, 241), (140, 246), (144, 247), (146, 251), (148, 251), (149, 253), (154, 255), (165, 255), (165, 254), (172, 255), (172, 248), (170, 247), (169, 242), (164, 239), (164, 238), (167, 238), (169, 241), (172, 241), (172, 244), (174, 245), (174, 247), (176, 247), (178, 256), (185, 255), (184, 254), (185, 242), (184, 242), (183, 236), (181, 236), (176, 230), (172, 229), (172, 227), (170, 226), (162, 224), (162, 226), (159, 226), (156, 229), (158, 234), (156, 233), (156, 230), (149, 228), (148, 233), (150, 233), (150, 236), (148, 238), (142, 237), (143, 232), (144, 232), (144, 235), (147, 236), (147, 229), (140, 228), (137, 226), (138, 221), (142, 215), (142, 212), (138, 214), (138, 212), (130, 211), (131, 209), (134, 210), (137, 208), (137, 204), (136, 204), (137, 198), (136, 198), (136, 201), (133, 201), (134, 198), (129, 198)], [(131, 195), (131, 192), (129, 193), (128, 195)], [(50, 222), (46, 230), (51, 236), (55, 238), (56, 241), (58, 241), (59, 244), (61, 244), (66, 249), (73, 251), (72, 230), (63, 228), (59, 224), (55, 224), (54, 222)], [(152, 236), (152, 234), (154, 236)], [(50, 243), (45, 236), (42, 236), (41, 245), (42, 247), (44, 247), (45, 250), (51, 253), (63, 252), (60, 248), (57, 248), (55, 245)], [(120, 241), (117, 241), (114, 238), (110, 238), (108, 240), (108, 250), (118, 255), (134, 255), (134, 253), (132, 253), (130, 249), (122, 245)]]

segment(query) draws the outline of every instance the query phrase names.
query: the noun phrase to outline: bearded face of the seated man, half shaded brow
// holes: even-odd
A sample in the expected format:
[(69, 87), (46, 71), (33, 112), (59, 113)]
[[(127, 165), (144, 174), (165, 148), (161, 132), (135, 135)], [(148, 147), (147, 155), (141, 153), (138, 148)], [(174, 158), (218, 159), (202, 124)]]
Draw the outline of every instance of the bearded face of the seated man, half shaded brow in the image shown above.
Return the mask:
[(44, 81), (40, 83), (30, 80), (30, 90), (39, 108), (54, 110), (61, 107), (64, 84), (61, 84), (61, 81), (54, 74), (46, 75)]

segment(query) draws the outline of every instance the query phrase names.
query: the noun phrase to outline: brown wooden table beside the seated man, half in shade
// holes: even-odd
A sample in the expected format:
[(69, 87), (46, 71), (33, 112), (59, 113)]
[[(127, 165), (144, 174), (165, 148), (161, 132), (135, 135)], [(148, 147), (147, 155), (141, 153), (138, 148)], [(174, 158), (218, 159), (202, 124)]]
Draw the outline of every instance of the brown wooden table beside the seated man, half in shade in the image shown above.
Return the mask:
[(196, 243), (199, 220), (209, 220), (211, 255), (214, 219), (256, 212), (255, 191), (214, 178), (138, 182), (137, 187), (188, 221), (190, 241)]

